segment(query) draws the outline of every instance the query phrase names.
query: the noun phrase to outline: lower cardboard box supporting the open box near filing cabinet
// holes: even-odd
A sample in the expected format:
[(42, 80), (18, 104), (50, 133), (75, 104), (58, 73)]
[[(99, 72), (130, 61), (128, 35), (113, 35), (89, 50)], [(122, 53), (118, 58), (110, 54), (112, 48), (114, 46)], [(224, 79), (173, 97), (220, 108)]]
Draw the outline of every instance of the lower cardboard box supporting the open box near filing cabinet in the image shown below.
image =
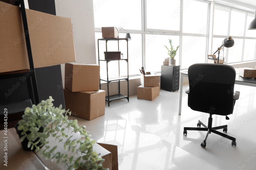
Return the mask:
[(137, 99), (143, 99), (143, 100), (154, 100), (158, 95), (160, 91), (160, 86), (156, 87), (143, 87), (142, 85), (137, 87)]

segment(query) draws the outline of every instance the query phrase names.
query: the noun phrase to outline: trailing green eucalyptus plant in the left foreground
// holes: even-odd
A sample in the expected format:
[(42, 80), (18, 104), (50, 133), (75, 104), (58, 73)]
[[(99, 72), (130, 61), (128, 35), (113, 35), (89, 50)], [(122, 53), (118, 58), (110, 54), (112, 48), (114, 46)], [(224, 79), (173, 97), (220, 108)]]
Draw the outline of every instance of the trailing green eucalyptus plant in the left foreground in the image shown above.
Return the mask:
[[(45, 159), (55, 160), (56, 163), (65, 163), (69, 170), (79, 167), (87, 170), (109, 170), (109, 168), (102, 167), (104, 159), (93, 150), (95, 141), (90, 138), (91, 135), (85, 130), (86, 127), (79, 127), (76, 119), (69, 120), (67, 113), (70, 115), (71, 112), (62, 109), (62, 105), (54, 107), (52, 101), (54, 99), (50, 96), (49, 99), (42, 100), (41, 103), (33, 105), (32, 108), (26, 108), (22, 116), (23, 119), (18, 122), (17, 127), (23, 135), (20, 142), (27, 138), (28, 148), (31, 147), (31, 150), (36, 148), (36, 151), (39, 151)], [(39, 132), (40, 128), (44, 129), (43, 132)], [(71, 133), (65, 134), (67, 129)], [(80, 132), (82, 137), (71, 140), (73, 136), (71, 134), (77, 132)], [(56, 146), (49, 145), (47, 138), (50, 136), (56, 139)], [(72, 150), (74, 154), (68, 156), (66, 153), (55, 152), (60, 142), (63, 143), (65, 150)], [(82, 156), (74, 159), (76, 153), (80, 153), (79, 155)]]

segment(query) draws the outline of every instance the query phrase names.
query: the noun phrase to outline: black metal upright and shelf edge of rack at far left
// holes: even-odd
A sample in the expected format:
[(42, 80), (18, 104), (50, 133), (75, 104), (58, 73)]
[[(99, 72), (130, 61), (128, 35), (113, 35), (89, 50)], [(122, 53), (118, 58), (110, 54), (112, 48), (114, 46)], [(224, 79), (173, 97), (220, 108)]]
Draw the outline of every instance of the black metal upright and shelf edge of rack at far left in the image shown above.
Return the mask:
[(0, 79), (21, 77), (23, 75), (28, 74), (29, 77), (26, 80), (27, 80), (27, 85), (28, 85), (29, 98), (31, 99), (31, 102), (33, 104), (38, 104), (39, 96), (38, 96), (38, 90), (37, 90), (36, 74), (35, 74), (35, 68), (34, 68), (33, 57), (32, 57), (32, 50), (31, 50), (31, 44), (30, 44), (30, 38), (29, 38), (28, 22), (27, 22), (24, 0), (18, 0), (17, 6), (19, 6), (19, 5), (20, 5), (20, 9), (21, 9), (21, 14), (22, 14), (22, 21), (23, 21), (25, 40), (26, 40), (26, 46), (27, 46), (27, 52), (28, 52), (29, 71), (25, 72), (25, 73), (14, 73), (14, 74), (1, 75)]

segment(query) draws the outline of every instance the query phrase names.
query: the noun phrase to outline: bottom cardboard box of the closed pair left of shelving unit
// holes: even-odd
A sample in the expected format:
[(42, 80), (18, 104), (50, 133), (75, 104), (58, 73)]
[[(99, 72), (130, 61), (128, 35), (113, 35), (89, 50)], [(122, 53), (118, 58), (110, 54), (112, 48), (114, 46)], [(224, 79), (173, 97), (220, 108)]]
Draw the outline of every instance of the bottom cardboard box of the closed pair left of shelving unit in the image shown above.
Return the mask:
[(105, 114), (105, 91), (72, 92), (63, 89), (66, 109), (72, 115), (82, 119), (92, 120)]

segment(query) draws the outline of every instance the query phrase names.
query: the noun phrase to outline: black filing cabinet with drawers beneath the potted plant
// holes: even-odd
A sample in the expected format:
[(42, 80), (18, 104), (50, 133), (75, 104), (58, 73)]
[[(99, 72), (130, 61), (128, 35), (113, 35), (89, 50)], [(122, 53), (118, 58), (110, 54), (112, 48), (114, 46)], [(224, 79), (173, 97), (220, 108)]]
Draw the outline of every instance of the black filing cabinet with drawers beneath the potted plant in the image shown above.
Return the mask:
[(179, 90), (179, 69), (180, 66), (161, 66), (161, 89)]

